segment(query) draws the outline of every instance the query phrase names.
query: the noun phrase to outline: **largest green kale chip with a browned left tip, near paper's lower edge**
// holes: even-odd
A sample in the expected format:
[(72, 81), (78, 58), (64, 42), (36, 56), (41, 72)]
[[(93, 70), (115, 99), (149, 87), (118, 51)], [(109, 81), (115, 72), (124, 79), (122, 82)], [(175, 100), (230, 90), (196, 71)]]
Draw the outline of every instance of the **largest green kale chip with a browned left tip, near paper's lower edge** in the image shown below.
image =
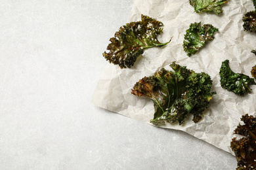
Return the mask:
[(152, 99), (155, 109), (152, 124), (178, 121), (181, 125), (188, 114), (193, 114), (194, 122), (198, 122), (216, 93), (210, 92), (211, 77), (175, 62), (170, 66), (174, 72), (161, 69), (154, 76), (145, 76), (135, 84), (132, 93)]

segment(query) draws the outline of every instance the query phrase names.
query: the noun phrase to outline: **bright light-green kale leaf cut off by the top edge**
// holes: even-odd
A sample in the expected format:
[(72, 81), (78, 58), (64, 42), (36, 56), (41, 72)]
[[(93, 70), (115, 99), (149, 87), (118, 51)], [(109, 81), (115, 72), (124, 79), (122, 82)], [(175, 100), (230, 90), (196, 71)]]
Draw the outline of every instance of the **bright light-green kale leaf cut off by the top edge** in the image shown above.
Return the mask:
[(190, 5), (194, 7), (195, 12), (214, 12), (215, 14), (221, 14), (223, 10), (221, 5), (227, 3), (225, 0), (189, 0)]

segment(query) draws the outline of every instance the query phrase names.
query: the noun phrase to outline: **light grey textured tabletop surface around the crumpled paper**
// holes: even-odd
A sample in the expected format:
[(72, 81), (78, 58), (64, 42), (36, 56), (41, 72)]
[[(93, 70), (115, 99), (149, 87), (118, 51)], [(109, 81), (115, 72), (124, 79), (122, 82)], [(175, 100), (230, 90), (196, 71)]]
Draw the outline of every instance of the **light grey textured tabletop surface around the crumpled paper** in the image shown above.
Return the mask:
[(191, 135), (91, 104), (102, 52), (132, 5), (0, 2), (0, 169), (236, 168)]

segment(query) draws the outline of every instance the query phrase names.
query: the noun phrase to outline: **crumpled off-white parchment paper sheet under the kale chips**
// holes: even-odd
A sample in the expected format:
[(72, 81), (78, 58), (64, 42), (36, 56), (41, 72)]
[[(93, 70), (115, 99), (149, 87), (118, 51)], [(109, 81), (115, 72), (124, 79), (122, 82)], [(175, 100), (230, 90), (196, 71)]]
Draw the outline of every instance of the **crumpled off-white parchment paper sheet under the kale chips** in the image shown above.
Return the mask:
[[(188, 0), (135, 0), (127, 22), (139, 21), (141, 14), (156, 18), (163, 22), (163, 33), (158, 40), (167, 42), (171, 37), (173, 39), (167, 46), (145, 50), (131, 69), (120, 69), (119, 66), (106, 61), (107, 67), (98, 81), (92, 103), (150, 124), (150, 119), (154, 116), (153, 102), (132, 95), (131, 89), (141, 78), (154, 75), (162, 67), (172, 70), (169, 64), (176, 61), (196, 73), (203, 71), (209, 74), (213, 80), (212, 91), (217, 94), (197, 124), (188, 117), (182, 126), (167, 123), (160, 127), (186, 131), (233, 154), (230, 141), (241, 116), (246, 113), (255, 114), (256, 86), (252, 85), (253, 91), (244, 96), (228, 92), (221, 88), (219, 69), (222, 61), (229, 59), (230, 67), (235, 73), (251, 76), (251, 68), (256, 65), (256, 56), (251, 53), (251, 50), (256, 48), (256, 35), (244, 31), (242, 27), (243, 15), (253, 10), (252, 1), (228, 1), (222, 7), (223, 13), (219, 15), (198, 14), (194, 12)], [(183, 50), (182, 42), (186, 29), (194, 22), (201, 22), (202, 25), (212, 24), (219, 28), (219, 32), (215, 33), (213, 41), (208, 41), (200, 51), (189, 58)]]

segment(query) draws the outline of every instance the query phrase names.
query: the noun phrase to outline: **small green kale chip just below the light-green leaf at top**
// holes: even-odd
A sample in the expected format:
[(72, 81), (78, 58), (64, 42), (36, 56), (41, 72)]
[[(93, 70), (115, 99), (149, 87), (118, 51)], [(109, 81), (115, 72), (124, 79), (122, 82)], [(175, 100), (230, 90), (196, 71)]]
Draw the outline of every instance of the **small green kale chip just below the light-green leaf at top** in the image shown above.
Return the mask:
[(183, 48), (188, 56), (195, 54), (200, 48), (203, 47), (205, 41), (212, 41), (215, 37), (213, 34), (219, 29), (213, 27), (211, 24), (204, 24), (201, 27), (201, 22), (190, 24), (189, 29), (186, 30), (184, 35)]

